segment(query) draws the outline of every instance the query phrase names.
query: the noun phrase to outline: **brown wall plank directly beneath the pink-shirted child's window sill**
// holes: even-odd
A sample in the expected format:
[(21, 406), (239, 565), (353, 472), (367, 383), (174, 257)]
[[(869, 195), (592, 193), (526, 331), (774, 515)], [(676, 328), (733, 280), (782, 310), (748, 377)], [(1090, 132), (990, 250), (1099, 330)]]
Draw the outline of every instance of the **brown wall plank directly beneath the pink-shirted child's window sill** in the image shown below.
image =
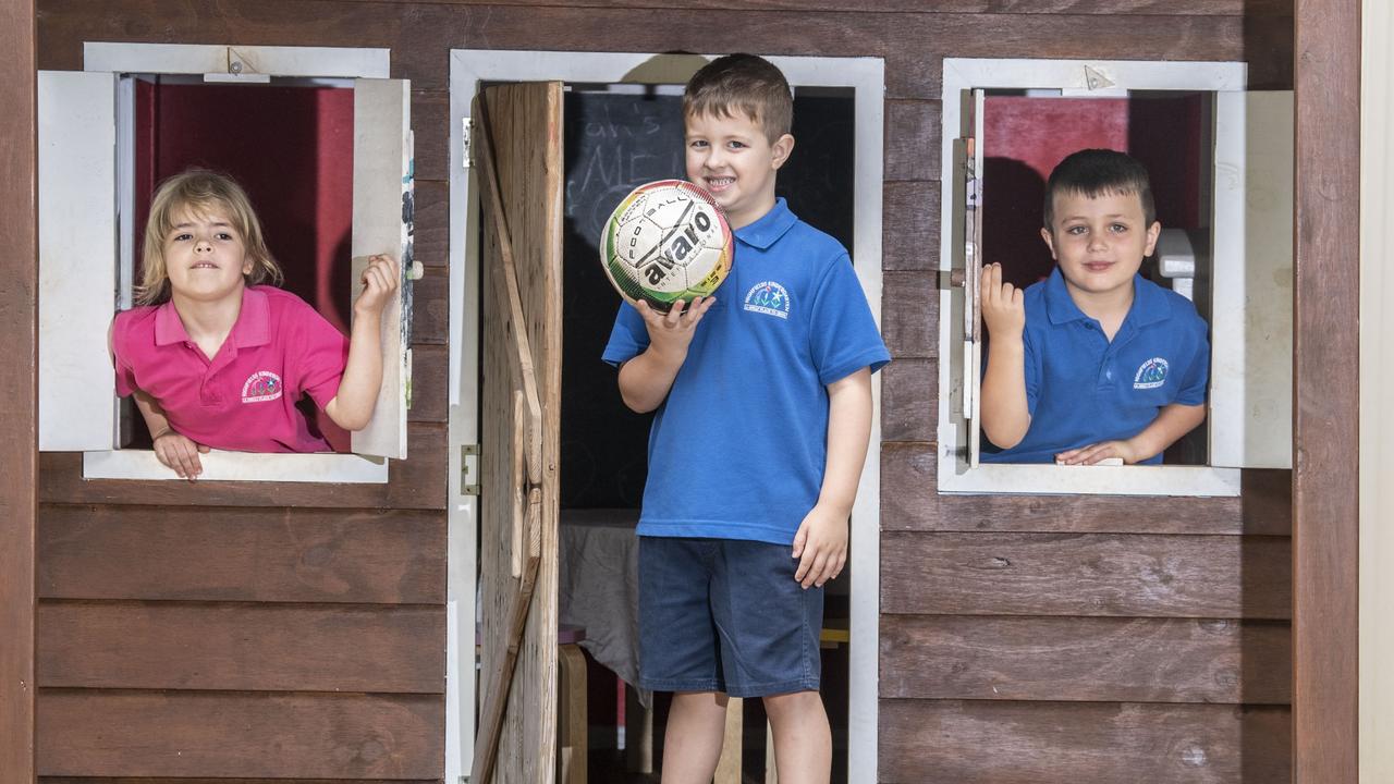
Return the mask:
[(39, 501), (152, 506), (445, 509), (445, 425), (410, 423), (407, 432), (408, 456), (406, 460), (390, 462), (388, 484), (84, 480), (82, 455), (45, 452), (39, 456)]

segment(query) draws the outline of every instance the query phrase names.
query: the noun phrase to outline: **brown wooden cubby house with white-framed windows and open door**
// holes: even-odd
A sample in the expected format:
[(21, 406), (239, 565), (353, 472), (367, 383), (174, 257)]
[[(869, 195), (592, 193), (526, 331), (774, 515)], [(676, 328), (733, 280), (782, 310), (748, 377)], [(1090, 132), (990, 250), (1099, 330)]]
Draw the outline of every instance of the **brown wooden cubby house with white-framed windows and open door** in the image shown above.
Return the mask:
[[(619, 541), (588, 551), (615, 589), (644, 476), (595, 232), (682, 176), (680, 85), (719, 46), (789, 77), (781, 194), (850, 250), (894, 356), (829, 590), (834, 780), (1354, 781), (1345, 4), (14, 6), (0, 89), (32, 120), (0, 123), (36, 187), (0, 211), (0, 352), (32, 365), (0, 382), (0, 778), (650, 780), (661, 706), (631, 695), (634, 770), (599, 767), (562, 650), (599, 585), (577, 537)], [(1158, 467), (983, 465), (974, 272), (1040, 275), (1022, 237), (1086, 145), (1153, 170), (1147, 275), (1211, 325), (1210, 416)], [(116, 400), (142, 209), (194, 163), (275, 213), (330, 321), (355, 259), (415, 262), (342, 452), (171, 481)], [(633, 668), (613, 601), (592, 685)], [(730, 711), (719, 781), (775, 778), (761, 718)]]

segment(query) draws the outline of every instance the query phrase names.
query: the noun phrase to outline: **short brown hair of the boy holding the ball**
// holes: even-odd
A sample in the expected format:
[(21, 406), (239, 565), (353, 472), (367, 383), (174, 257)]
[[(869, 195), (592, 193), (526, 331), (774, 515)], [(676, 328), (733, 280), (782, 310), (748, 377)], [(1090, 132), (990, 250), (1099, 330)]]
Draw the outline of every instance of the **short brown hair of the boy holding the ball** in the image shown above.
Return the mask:
[(774, 144), (793, 126), (793, 93), (783, 74), (764, 57), (726, 54), (701, 67), (683, 91), (683, 117), (732, 117), (742, 112)]

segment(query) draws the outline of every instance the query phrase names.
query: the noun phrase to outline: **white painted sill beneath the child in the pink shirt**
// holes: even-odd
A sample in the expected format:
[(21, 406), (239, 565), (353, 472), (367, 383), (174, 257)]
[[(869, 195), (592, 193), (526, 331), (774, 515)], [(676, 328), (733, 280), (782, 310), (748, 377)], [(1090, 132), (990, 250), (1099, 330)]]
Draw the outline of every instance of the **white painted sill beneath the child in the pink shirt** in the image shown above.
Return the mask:
[[(199, 481), (386, 484), (388, 462), (360, 455), (294, 455), (212, 451), (199, 455)], [(177, 480), (151, 449), (82, 453), (82, 478)]]

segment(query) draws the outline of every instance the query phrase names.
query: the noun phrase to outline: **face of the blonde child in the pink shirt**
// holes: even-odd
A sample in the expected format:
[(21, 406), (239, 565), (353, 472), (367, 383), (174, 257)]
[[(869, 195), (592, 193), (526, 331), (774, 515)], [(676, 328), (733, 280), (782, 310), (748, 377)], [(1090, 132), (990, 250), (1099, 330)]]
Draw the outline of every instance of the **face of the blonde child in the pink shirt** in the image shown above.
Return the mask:
[(181, 208), (171, 222), (163, 254), (173, 297), (201, 303), (241, 299), (252, 259), (227, 215)]

